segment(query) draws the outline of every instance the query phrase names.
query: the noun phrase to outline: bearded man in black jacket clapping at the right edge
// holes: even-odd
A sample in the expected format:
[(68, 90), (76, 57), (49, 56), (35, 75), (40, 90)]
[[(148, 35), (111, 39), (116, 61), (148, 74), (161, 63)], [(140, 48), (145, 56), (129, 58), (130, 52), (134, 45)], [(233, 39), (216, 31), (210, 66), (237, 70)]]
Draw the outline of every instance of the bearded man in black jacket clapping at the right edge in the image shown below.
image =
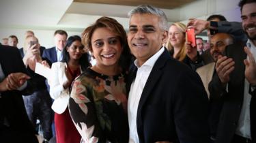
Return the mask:
[(216, 143), (256, 142), (256, 1), (240, 1), (244, 44), (226, 48), (218, 57), (209, 85), (210, 99), (223, 101)]

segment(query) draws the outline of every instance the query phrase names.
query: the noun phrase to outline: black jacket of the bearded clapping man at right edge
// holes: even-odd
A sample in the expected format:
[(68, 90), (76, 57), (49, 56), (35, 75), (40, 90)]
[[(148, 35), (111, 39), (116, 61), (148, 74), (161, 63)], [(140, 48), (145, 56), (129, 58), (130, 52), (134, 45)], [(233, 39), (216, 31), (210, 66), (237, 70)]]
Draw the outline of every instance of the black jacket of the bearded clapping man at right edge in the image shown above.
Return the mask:
[[(230, 74), (228, 82), (228, 93), (221, 85), (221, 80), (217, 74), (214, 74), (212, 81), (209, 84), (210, 99), (212, 101), (221, 99), (223, 101), (223, 108), (218, 123), (216, 134), (216, 143), (229, 143), (236, 132), (242, 103), (244, 99), (244, 59), (246, 53), (244, 52), (244, 44), (236, 43), (227, 46), (226, 54), (235, 61), (235, 69)], [(255, 96), (251, 101), (255, 101)], [(251, 104), (252, 105), (252, 104)], [(251, 110), (252, 111), (252, 110)], [(252, 113), (252, 112), (251, 112)], [(256, 142), (255, 127), (253, 126), (253, 114), (251, 114), (251, 133), (253, 142)], [(255, 116), (255, 115), (254, 115)], [(254, 120), (255, 122), (256, 120)]]

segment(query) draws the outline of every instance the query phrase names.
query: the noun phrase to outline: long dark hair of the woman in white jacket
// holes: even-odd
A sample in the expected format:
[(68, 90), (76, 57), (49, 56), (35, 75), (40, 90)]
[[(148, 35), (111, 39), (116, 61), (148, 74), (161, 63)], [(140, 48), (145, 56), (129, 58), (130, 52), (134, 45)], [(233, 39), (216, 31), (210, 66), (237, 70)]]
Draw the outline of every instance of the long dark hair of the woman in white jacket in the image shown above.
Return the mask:
[[(67, 43), (62, 50), (62, 54), (63, 54), (63, 59), (61, 60), (62, 62), (65, 62), (68, 64), (68, 61), (70, 61), (70, 54), (68, 53), (67, 48), (70, 47), (72, 43), (75, 41), (82, 42), (82, 39), (81, 37), (79, 37), (79, 35), (72, 35), (68, 37)], [(87, 67), (91, 65), (89, 63), (89, 60), (90, 60), (89, 57), (90, 57), (89, 54), (85, 52), (85, 54), (82, 54), (82, 57), (79, 59), (79, 65), (81, 66), (82, 71), (85, 71), (85, 69), (87, 69)]]

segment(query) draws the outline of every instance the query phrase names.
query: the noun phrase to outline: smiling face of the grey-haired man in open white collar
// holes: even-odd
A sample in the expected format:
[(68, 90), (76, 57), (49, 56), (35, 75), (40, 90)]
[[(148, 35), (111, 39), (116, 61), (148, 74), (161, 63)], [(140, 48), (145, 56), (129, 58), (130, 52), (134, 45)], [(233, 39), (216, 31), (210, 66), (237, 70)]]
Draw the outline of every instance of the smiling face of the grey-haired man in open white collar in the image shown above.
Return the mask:
[(139, 65), (143, 65), (167, 40), (167, 31), (160, 29), (158, 16), (133, 14), (130, 18), (128, 44)]

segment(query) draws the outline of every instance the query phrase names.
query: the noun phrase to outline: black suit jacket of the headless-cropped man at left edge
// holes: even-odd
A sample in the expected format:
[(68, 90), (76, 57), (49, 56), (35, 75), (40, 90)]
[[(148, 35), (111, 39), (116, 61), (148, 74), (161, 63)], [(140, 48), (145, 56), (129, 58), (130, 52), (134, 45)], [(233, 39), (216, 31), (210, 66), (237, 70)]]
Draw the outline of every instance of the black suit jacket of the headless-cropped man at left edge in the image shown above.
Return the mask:
[[(20, 53), (17, 48), (12, 48), (10, 46), (0, 46), (0, 63), (3, 69), (3, 74), (8, 76), (11, 73), (23, 72), (27, 74), (27, 70), (23, 61), (20, 57)], [(29, 86), (29, 82), (28, 82)], [(27, 95), (33, 92), (31, 89), (27, 88), (24, 91), (4, 91), (1, 92), (0, 98), (0, 140), (5, 142), (6, 136), (13, 136), (9, 138), (8, 142), (12, 140), (23, 140), (29, 142), (29, 136), (35, 138), (35, 130), (29, 121), (25, 106), (23, 103), (22, 95)], [(6, 128), (3, 125), (3, 117), (7, 119), (10, 127)], [(10, 132), (8, 132), (10, 131)], [(13, 132), (14, 131), (14, 132)], [(10, 133), (19, 133), (20, 137), (15, 136), (15, 134), (10, 135)], [(24, 135), (24, 136), (22, 136)], [(8, 137), (7, 137), (8, 138)], [(7, 141), (6, 141), (7, 142)]]

